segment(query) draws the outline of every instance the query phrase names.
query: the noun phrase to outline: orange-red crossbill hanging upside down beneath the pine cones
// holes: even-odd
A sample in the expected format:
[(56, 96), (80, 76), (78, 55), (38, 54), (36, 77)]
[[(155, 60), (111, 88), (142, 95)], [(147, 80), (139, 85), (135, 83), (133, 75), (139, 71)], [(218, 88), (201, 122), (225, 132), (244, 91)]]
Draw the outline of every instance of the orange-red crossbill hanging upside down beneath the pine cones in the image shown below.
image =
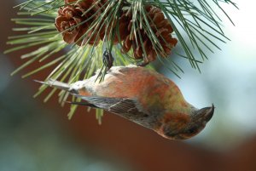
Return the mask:
[[(77, 105), (110, 111), (170, 140), (189, 139), (212, 118), (214, 106), (197, 109), (175, 83), (140, 66), (113, 66), (103, 82), (96, 75), (76, 83), (45, 82), (81, 98)], [(44, 82), (40, 82), (44, 83)]]

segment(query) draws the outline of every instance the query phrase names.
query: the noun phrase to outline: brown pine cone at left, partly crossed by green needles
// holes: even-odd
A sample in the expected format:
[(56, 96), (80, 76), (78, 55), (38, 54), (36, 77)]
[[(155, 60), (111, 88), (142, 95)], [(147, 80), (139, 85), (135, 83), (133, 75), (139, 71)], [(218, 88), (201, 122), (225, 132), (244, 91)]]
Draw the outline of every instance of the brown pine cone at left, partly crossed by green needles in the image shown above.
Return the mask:
[[(73, 3), (73, 2), (77, 2), (77, 0), (65, 0), (65, 3)], [(102, 1), (102, 3), (106, 3), (106, 1), (104, 0)], [(90, 25), (101, 14), (103, 9), (102, 10), (99, 10), (99, 9), (102, 7), (102, 3), (96, 3), (95, 0), (84, 0), (79, 3), (66, 5), (64, 7), (61, 7), (58, 10), (58, 16), (55, 19), (55, 27), (60, 32), (64, 31), (62, 32), (62, 36), (63, 36), (63, 40), (66, 43), (77, 43), (79, 46), (82, 46), (89, 39), (90, 41), (88, 43), (90, 45), (93, 45), (93, 44), (97, 45), (99, 43), (100, 34), (102, 34), (103, 29), (100, 32), (95, 31), (95, 29), (90, 28)], [(82, 14), (88, 9), (90, 9), (90, 11), (86, 12), (82, 16)], [(93, 14), (95, 14), (94, 17), (88, 20)], [(84, 24), (79, 25), (79, 23), (83, 22), (84, 20), (87, 20), (87, 21)], [(79, 25), (79, 26), (76, 26), (76, 25)], [(71, 28), (72, 26), (75, 26), (75, 27)], [(91, 30), (84, 36), (84, 33), (88, 31), (88, 29), (91, 29)], [(92, 35), (93, 31), (95, 31), (95, 33)], [(79, 42), (77, 42), (80, 37), (83, 37), (83, 38)]]

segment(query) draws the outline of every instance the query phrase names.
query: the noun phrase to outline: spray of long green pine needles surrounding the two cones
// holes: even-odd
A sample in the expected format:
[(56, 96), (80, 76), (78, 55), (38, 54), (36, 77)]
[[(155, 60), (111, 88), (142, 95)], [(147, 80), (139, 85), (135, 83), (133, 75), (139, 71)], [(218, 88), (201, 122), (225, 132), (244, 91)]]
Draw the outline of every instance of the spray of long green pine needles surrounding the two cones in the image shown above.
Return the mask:
[[(70, 5), (80, 1), (82, 0), (70, 3)], [(97, 3), (100, 3), (100, 0), (96, 0), (96, 3), (90, 9), (94, 8)], [(218, 12), (216, 12), (216, 9), (219, 9), (219, 12), (224, 13), (234, 25), (230, 16), (222, 9), (221, 5), (223, 3), (229, 3), (237, 8), (236, 3), (230, 0), (166, 0), (165, 2), (160, 0), (109, 0), (108, 3), (98, 9), (99, 11), (104, 8), (102, 14), (92, 21), (90, 28), (79, 38), (78, 42), (91, 32), (87, 43), (83, 47), (79, 47), (75, 44), (68, 45), (65, 43), (62, 40), (61, 33), (55, 29), (54, 23), (57, 10), (64, 6), (64, 0), (29, 0), (15, 6), (15, 8), (20, 8), (20, 12), (18, 12), (19, 17), (12, 19), (18, 26), (13, 31), (21, 31), (21, 33), (18, 36), (9, 37), (7, 43), (12, 45), (13, 48), (7, 49), (4, 53), (7, 54), (24, 48), (33, 49), (31, 52), (21, 56), (21, 59), (26, 60), (26, 62), (13, 71), (12, 75), (23, 70), (26, 66), (40, 63), (41, 67), (34, 71), (29, 71), (22, 77), (32, 76), (39, 71), (44, 71), (48, 67), (54, 66), (55, 69), (49, 73), (49, 77), (45, 80), (51, 78), (61, 82), (74, 83), (91, 77), (97, 69), (101, 69), (98, 77), (100, 81), (103, 81), (107, 68), (102, 63), (102, 54), (106, 49), (113, 54), (114, 66), (126, 66), (141, 61), (133, 58), (132, 50), (127, 54), (121, 53), (119, 21), (116, 26), (113, 26), (113, 20), (119, 19), (120, 11), (128, 10), (129, 13), (132, 13), (131, 32), (136, 37), (137, 46), (143, 44), (143, 37), (141, 32), (138, 31), (143, 29), (153, 44), (157, 59), (163, 66), (166, 66), (179, 77), (178, 73), (183, 72), (182, 67), (178, 66), (172, 59), (167, 60), (161, 57), (165, 51), (150, 26), (152, 19), (147, 17), (145, 6), (154, 5), (163, 11), (172, 24), (174, 30), (174, 35), (172, 36), (177, 37), (178, 42), (183, 47), (184, 54), (179, 54), (179, 56), (184, 60), (188, 60), (192, 68), (200, 71), (199, 64), (207, 59), (206, 52), (213, 53), (215, 49), (220, 49), (217, 42), (225, 43), (229, 40), (221, 29), (222, 20), (218, 17)], [(90, 9), (84, 11), (83, 15), (87, 14)], [(91, 20), (96, 14), (97, 12), (87, 20), (79, 23), (78, 26)], [(75, 27), (77, 26), (69, 29)], [(103, 41), (99, 44), (89, 45), (90, 39), (93, 36), (98, 36), (98, 31), (103, 28), (109, 34), (105, 34)], [(113, 39), (116, 35), (119, 38), (119, 44), (117, 45), (113, 44)], [(144, 46), (142, 48), (143, 57), (146, 59), (146, 49)], [(201, 56), (199, 59), (196, 57), (198, 54)], [(34, 97), (42, 94), (47, 87), (47, 85), (42, 85)], [(55, 88), (51, 89), (44, 102), (48, 101), (56, 91)], [(69, 94), (65, 91), (60, 91), (58, 95), (61, 105), (65, 105)], [(79, 101), (74, 97), (72, 97), (72, 100)], [(73, 116), (76, 108), (77, 105), (71, 105), (68, 118)], [(102, 116), (102, 110), (96, 110), (96, 119), (99, 123), (102, 123)]]

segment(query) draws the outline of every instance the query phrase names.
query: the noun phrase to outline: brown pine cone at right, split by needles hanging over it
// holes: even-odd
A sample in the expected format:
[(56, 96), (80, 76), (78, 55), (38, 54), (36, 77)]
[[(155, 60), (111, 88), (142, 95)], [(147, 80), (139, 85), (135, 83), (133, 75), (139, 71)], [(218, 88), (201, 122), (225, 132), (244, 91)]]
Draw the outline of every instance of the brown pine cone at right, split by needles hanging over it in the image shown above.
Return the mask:
[[(127, 15), (126, 12), (124, 12), (120, 20), (124, 20), (125, 22), (123, 22), (123, 25), (120, 25), (120, 28), (125, 30), (123, 31), (125, 35), (122, 35), (122, 37), (125, 37), (125, 41), (122, 44), (122, 52), (127, 53), (132, 47), (135, 59), (143, 59), (144, 63), (149, 63), (156, 59), (156, 50), (162, 57), (171, 54), (172, 48), (177, 44), (177, 39), (172, 37), (173, 29), (171, 23), (169, 20), (165, 19), (165, 15), (160, 9), (151, 5), (147, 6), (145, 9), (148, 13), (147, 17), (149, 25), (151, 26), (152, 31), (154, 31), (154, 35), (158, 38), (164, 51), (154, 48), (153, 43), (148, 37), (148, 33), (143, 30), (143, 28), (138, 29), (136, 35), (133, 31), (131, 32), (131, 14)], [(143, 40), (142, 43), (140, 41), (139, 33)], [(138, 43), (136, 42), (136, 39)], [(147, 56), (143, 55), (143, 47)]]

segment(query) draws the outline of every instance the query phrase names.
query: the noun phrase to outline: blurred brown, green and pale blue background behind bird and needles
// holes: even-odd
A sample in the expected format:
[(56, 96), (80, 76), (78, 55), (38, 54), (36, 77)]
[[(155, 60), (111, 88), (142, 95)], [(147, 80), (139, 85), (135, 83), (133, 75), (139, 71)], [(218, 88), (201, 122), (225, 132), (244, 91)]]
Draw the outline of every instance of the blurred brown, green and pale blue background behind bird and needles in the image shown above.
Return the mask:
[[(239, 10), (224, 6), (236, 26), (223, 17), (231, 41), (222, 51), (208, 54), (201, 73), (185, 60), (182, 79), (159, 69), (174, 80), (186, 100), (196, 107), (214, 103), (216, 111), (201, 134), (172, 141), (153, 131), (106, 113), (98, 125), (93, 111), (80, 108), (67, 119), (56, 97), (43, 103), (33, 99), (45, 73), (21, 79), (10, 77), (22, 61), (18, 51), (3, 54), (13, 35), (18, 1), (1, 3), (0, 20), (0, 170), (1, 171), (256, 171), (256, 3), (234, 0)], [(177, 47), (178, 48), (178, 47)], [(157, 66), (157, 65), (156, 65)], [(29, 67), (27, 68), (29, 70)]]

